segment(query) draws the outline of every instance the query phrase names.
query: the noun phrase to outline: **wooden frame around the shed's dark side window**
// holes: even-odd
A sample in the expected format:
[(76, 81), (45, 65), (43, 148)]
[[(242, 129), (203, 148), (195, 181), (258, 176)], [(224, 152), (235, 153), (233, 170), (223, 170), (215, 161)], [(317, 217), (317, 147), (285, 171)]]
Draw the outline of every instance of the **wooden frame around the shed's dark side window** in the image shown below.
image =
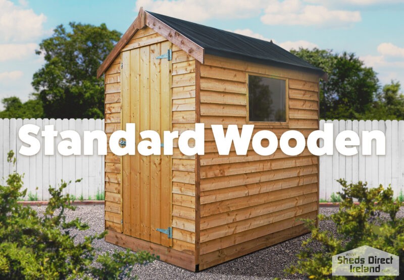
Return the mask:
[[(249, 120), (249, 77), (248, 76), (258, 76), (258, 77), (263, 77), (263, 78), (271, 78), (271, 79), (278, 79), (278, 80), (284, 80), (285, 81), (285, 122), (260, 122), (260, 121), (250, 121)], [(252, 72), (247, 72), (246, 73), (246, 109), (247, 109), (247, 116), (246, 116), (246, 123), (249, 125), (254, 125), (255, 127), (279, 127), (279, 128), (289, 128), (289, 79), (285, 77), (280, 77), (280, 76), (275, 76), (275, 75), (265, 75), (261, 73), (252, 73)]]

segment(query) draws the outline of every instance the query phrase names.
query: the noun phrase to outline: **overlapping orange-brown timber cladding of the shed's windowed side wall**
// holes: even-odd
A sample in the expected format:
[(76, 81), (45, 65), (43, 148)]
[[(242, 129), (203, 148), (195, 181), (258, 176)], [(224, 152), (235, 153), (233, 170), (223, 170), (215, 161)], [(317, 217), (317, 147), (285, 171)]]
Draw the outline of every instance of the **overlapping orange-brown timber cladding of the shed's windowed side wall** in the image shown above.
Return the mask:
[(260, 156), (251, 145), (246, 155), (234, 147), (218, 154), (210, 125), (247, 124), (248, 74), (284, 78), (288, 85), (287, 125), (263, 123), (254, 132), (271, 130), (279, 139), (289, 129), (305, 137), (318, 129), (316, 75), (206, 55), (200, 67), (206, 128), (205, 155), (198, 158), (200, 269), (306, 233), (296, 218), (316, 218), (318, 211), (318, 157), (307, 148), (297, 156), (280, 150)]

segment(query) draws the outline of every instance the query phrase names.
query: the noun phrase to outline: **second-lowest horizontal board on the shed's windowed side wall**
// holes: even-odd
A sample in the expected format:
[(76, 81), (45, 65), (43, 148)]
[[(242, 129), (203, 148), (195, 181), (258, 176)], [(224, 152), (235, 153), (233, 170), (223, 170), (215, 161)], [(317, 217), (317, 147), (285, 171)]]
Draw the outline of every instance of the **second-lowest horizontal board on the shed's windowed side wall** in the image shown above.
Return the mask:
[(278, 222), (271, 223), (270, 225), (262, 226), (260, 228), (251, 229), (245, 232), (236, 233), (231, 236), (222, 237), (213, 241), (204, 242), (200, 244), (200, 254), (204, 255), (216, 250), (221, 250), (226, 247), (233, 246), (245, 241), (254, 240), (265, 235), (276, 233), (294, 226), (301, 225), (304, 221), (301, 219), (315, 218), (317, 211), (298, 215), (289, 219), (284, 219)]

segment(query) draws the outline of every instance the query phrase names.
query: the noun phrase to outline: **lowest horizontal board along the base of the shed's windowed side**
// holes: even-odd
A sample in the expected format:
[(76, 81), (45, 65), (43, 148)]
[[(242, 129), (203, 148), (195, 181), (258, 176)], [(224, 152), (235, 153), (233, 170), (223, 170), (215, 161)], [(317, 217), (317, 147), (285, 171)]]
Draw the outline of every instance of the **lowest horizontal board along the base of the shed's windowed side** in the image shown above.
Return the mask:
[(293, 228), (288, 228), (254, 240), (201, 255), (199, 257), (199, 269), (206, 269), (308, 232), (308, 229), (304, 225), (298, 225)]

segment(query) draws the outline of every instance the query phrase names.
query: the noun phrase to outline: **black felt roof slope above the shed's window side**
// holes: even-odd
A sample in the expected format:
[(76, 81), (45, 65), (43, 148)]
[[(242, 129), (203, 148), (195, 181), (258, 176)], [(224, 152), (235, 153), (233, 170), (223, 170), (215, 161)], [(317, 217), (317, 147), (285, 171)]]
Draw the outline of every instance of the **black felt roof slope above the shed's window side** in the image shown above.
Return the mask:
[(229, 31), (147, 12), (205, 49), (205, 53), (260, 64), (324, 72), (276, 44)]

